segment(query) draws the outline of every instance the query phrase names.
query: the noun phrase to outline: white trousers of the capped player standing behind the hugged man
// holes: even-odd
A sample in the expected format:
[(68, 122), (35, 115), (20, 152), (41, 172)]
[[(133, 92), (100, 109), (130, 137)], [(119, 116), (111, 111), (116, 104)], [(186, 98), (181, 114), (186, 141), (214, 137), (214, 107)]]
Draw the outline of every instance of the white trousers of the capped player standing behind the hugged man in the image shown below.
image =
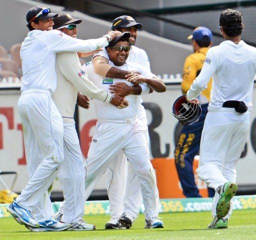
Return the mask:
[[(147, 129), (146, 120), (141, 121)], [(148, 146), (149, 137), (147, 130), (144, 132), (144, 136)], [(112, 218), (119, 218), (122, 213), (128, 212), (136, 219), (142, 204), (138, 177), (122, 150), (113, 158), (116, 160), (111, 163), (106, 171), (110, 216)]]

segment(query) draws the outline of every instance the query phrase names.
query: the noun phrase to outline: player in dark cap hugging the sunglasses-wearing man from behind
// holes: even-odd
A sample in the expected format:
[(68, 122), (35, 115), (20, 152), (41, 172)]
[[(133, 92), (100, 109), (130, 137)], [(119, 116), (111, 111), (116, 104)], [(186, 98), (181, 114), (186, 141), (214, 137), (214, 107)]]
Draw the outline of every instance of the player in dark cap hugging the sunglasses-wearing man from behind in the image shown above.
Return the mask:
[[(150, 71), (150, 64), (146, 52), (134, 46), (137, 36), (137, 29), (141, 29), (142, 24), (136, 22), (131, 16), (119, 16), (113, 20), (112, 30), (118, 29), (120, 32), (130, 32), (131, 49), (127, 58), (128, 62), (138, 63)], [(101, 56), (101, 57), (99, 57)], [(103, 77), (125, 78), (129, 71), (120, 70), (107, 64), (108, 54), (103, 48), (102, 51), (94, 55), (93, 65), (95, 73)], [(134, 70), (133, 70), (134, 71)], [(157, 83), (157, 81), (155, 82)], [(161, 84), (159, 84), (161, 87)], [(142, 85), (142, 89), (138, 93), (132, 93), (130, 90), (134, 88), (127, 86), (125, 83), (117, 83), (110, 85), (109, 88), (113, 93), (121, 95), (128, 94), (148, 94), (151, 92), (146, 85)], [(141, 105), (141, 96), (138, 99), (138, 118), (145, 124), (147, 128), (147, 119), (144, 107)], [(147, 143), (149, 144), (148, 131), (145, 132)], [(138, 178), (129, 161), (120, 151), (115, 158), (119, 159), (118, 164), (111, 164), (107, 170), (107, 190), (109, 199), (109, 211), (111, 219), (106, 223), (106, 229), (130, 228), (133, 221), (137, 218), (139, 208), (142, 203), (142, 196)], [(127, 183), (127, 184), (126, 184)], [(120, 220), (121, 217), (121, 220)]]

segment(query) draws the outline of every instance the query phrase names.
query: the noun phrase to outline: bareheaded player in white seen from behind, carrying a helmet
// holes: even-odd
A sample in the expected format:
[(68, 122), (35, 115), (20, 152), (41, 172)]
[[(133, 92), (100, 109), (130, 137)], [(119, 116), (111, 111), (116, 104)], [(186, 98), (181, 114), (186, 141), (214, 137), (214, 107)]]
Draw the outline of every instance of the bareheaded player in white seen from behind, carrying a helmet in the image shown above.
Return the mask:
[(208, 50), (201, 72), (186, 94), (188, 101), (193, 100), (213, 76), (196, 170), (199, 178), (216, 191), (209, 228), (227, 228), (230, 200), (237, 190), (235, 164), (249, 131), (256, 73), (256, 48), (240, 39), (241, 13), (232, 9), (221, 12), (219, 28), (225, 41)]

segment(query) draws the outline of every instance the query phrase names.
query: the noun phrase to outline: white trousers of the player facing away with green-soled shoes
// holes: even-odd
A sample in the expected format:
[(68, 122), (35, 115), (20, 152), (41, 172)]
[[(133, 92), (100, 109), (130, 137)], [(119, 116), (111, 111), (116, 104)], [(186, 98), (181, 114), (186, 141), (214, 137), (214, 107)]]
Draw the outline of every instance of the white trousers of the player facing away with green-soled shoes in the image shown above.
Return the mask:
[[(226, 182), (236, 181), (235, 165), (240, 158), (249, 132), (250, 111), (237, 113), (233, 108), (209, 111), (206, 115), (200, 142), (199, 178), (216, 189)], [(218, 193), (212, 204), (216, 216)], [(232, 212), (232, 204), (226, 218)]]

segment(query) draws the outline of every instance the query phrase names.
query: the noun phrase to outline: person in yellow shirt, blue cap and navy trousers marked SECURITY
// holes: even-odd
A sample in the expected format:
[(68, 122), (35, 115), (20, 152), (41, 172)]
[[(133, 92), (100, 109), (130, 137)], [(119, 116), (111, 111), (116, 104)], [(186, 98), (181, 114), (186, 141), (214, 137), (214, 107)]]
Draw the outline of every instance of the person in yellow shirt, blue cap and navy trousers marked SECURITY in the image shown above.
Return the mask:
[[(186, 94), (193, 80), (200, 73), (205, 55), (212, 44), (212, 33), (208, 28), (201, 26), (195, 28), (192, 35), (188, 36), (187, 39), (192, 39), (194, 53), (187, 56), (184, 62), (181, 82), (183, 94)], [(201, 132), (210, 100), (211, 81), (212, 79), (209, 81), (207, 88), (198, 96), (202, 109), (199, 120), (192, 125), (183, 126), (175, 145), (175, 166), (186, 198), (201, 197), (194, 181), (193, 160), (194, 156), (199, 153)], [(214, 196), (213, 189), (208, 189), (208, 196)]]

